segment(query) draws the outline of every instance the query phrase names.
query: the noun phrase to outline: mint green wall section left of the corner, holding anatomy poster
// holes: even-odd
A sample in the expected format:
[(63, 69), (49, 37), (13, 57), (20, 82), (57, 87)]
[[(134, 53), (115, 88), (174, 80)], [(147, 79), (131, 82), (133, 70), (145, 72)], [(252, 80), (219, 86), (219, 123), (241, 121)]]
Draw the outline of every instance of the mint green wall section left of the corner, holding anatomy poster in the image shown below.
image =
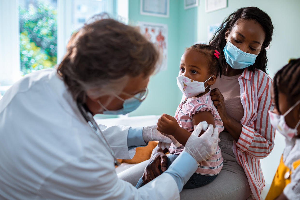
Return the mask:
[[(183, 6), (183, 3), (180, 4)], [(178, 42), (179, 42), (179, 1), (170, 0), (169, 17), (140, 15), (140, 0), (129, 0), (129, 24), (136, 25), (138, 21), (163, 23), (168, 25), (168, 68), (150, 78), (149, 95), (142, 105), (130, 116), (174, 115), (180, 101), (180, 90), (176, 84), (179, 72)]]

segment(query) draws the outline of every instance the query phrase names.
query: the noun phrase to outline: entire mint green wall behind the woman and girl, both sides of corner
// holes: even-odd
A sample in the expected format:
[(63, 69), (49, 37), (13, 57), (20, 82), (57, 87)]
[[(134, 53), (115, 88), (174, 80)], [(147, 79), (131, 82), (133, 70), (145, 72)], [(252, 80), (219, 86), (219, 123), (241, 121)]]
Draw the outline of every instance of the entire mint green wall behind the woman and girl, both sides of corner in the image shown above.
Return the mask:
[(170, 0), (169, 18), (140, 15), (140, 0), (129, 0), (129, 23), (138, 21), (165, 23), (168, 25), (168, 69), (152, 76), (149, 97), (130, 116), (173, 115), (181, 98), (176, 85), (179, 61), (186, 47), (199, 41), (207, 41), (207, 26), (222, 22), (240, 7), (256, 6), (265, 10), (274, 25), (271, 48), (267, 50), (269, 75), (287, 63), (289, 58), (300, 57), (300, 1), (299, 0), (228, 0), (227, 7), (205, 13), (205, 0), (199, 6), (184, 10), (184, 0)]

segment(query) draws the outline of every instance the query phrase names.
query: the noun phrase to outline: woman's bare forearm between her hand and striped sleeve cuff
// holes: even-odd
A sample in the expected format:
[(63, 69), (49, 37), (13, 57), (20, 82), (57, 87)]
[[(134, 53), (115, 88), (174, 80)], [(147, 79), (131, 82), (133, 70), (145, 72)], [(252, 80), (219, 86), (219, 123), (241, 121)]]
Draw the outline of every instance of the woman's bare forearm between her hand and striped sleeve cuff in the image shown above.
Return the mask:
[(222, 119), (222, 121), (224, 128), (237, 142), (241, 136), (243, 125), (239, 121), (236, 121), (234, 118), (230, 117), (229, 115), (226, 117), (226, 119)]

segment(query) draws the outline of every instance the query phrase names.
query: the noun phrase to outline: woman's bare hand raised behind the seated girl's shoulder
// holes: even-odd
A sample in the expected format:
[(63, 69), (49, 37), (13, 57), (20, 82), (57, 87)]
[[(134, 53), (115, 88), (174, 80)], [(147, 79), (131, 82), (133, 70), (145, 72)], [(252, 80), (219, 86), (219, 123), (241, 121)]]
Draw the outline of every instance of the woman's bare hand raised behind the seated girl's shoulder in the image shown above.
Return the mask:
[(218, 88), (214, 88), (210, 92), (211, 100), (214, 102), (214, 106), (216, 106), (219, 115), (225, 124), (228, 119), (228, 114), (225, 109), (224, 97)]

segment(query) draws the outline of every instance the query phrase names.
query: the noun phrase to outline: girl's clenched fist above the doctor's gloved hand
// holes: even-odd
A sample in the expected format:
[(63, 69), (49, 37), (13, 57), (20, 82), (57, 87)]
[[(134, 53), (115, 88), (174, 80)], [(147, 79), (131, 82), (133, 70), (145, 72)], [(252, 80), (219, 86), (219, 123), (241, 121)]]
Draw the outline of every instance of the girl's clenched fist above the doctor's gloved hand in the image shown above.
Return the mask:
[(176, 130), (180, 128), (177, 120), (167, 114), (161, 115), (161, 118), (158, 119), (157, 130), (161, 133), (174, 136)]

